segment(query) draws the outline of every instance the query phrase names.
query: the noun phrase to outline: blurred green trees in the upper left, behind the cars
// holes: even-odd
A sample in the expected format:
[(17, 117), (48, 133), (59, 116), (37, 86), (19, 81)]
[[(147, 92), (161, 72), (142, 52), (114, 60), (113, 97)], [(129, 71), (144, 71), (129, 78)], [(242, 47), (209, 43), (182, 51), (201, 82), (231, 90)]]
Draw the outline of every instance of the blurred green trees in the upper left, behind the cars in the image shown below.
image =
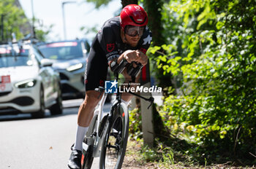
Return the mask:
[(42, 25), (42, 20), (35, 17), (29, 19), (15, 0), (0, 1), (0, 43), (11, 42), (14, 38), (20, 40), (31, 34), (33, 22), (36, 38), (46, 41), (53, 25)]

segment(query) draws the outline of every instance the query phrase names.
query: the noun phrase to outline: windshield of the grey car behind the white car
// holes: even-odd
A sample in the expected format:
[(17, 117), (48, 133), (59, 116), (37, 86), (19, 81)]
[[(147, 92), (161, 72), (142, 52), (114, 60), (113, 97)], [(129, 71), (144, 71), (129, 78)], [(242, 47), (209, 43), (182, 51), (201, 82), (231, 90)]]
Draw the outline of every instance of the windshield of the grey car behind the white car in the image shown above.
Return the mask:
[(45, 58), (53, 60), (70, 60), (83, 58), (83, 50), (78, 42), (56, 42), (39, 47)]

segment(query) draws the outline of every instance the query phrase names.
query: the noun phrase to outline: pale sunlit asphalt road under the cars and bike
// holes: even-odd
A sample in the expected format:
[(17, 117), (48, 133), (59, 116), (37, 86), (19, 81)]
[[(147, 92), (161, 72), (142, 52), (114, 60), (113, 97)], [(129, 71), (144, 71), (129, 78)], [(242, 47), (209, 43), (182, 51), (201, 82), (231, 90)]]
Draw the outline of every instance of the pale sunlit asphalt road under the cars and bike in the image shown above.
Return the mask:
[[(64, 113), (43, 119), (30, 114), (0, 116), (0, 169), (67, 168), (70, 146), (75, 141), (81, 99), (64, 101)], [(110, 104), (104, 111), (110, 109)], [(92, 168), (98, 168), (98, 159)]]

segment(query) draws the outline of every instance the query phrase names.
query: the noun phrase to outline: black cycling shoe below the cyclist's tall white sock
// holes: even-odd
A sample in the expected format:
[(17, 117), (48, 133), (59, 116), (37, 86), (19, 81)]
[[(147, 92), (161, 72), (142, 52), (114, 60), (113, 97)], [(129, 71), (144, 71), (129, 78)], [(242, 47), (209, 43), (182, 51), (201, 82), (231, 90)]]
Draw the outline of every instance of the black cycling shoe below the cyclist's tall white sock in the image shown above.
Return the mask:
[(82, 152), (80, 150), (73, 149), (69, 157), (69, 163), (67, 165), (71, 169), (80, 169), (81, 158), (82, 158)]

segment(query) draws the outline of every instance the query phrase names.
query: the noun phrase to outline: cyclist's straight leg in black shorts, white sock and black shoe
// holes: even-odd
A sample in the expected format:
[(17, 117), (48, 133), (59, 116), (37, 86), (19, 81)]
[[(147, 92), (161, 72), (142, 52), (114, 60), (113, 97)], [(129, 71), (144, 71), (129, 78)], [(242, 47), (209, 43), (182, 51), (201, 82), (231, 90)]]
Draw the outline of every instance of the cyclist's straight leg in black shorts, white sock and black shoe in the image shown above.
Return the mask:
[[(95, 47), (96, 46), (96, 47)], [(99, 51), (99, 52), (95, 52)], [(94, 114), (94, 108), (100, 101), (99, 93), (94, 91), (99, 86), (104, 86), (108, 72), (108, 62), (105, 55), (102, 55), (100, 50), (97, 50), (97, 38), (92, 43), (89, 59), (86, 64), (85, 84), (86, 98), (80, 105), (78, 111), (78, 130), (75, 138), (75, 146), (69, 158), (69, 168), (72, 166), (80, 167), (81, 150), (83, 138), (88, 130), (91, 119)], [(75, 154), (75, 155), (74, 155)]]

